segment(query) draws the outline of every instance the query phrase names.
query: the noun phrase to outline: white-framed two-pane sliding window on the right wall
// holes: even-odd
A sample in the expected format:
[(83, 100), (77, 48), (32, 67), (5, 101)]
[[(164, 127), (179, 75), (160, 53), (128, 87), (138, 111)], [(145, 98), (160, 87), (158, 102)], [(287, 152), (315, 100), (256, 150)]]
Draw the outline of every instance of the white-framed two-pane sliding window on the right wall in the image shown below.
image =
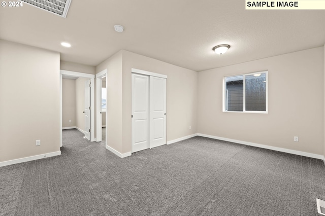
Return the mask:
[(224, 77), (223, 112), (267, 113), (268, 71)]

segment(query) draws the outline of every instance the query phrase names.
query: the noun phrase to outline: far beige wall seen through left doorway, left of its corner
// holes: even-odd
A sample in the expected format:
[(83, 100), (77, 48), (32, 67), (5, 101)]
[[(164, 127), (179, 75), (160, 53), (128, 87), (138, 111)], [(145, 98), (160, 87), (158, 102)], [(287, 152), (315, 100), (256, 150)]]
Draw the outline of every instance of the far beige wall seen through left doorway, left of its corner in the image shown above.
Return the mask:
[[(71, 122), (69, 122), (71, 120)], [(62, 79), (62, 128), (76, 126), (76, 81)]]

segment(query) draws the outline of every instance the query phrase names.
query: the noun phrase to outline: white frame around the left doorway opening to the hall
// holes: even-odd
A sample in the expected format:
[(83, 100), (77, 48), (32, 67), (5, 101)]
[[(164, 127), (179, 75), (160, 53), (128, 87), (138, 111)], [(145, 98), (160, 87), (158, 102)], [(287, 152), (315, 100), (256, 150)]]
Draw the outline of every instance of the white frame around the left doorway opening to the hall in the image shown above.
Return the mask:
[[(69, 77), (82, 77), (90, 79), (90, 107), (94, 106), (94, 78), (93, 74), (85, 74), (71, 70), (60, 70), (60, 114), (59, 114), (59, 122), (60, 122), (60, 147), (62, 147), (62, 79), (63, 75)], [(96, 141), (94, 136), (94, 109), (90, 109), (90, 141)]]

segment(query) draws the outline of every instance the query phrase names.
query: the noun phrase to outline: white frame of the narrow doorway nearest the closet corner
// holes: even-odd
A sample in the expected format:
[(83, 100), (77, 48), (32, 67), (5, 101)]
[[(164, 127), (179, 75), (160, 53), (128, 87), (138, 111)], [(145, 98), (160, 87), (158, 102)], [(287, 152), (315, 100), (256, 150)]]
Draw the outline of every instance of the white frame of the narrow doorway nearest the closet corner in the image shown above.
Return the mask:
[[(95, 75), (96, 78), (96, 141), (102, 141), (102, 78), (106, 77), (107, 91), (107, 69)], [(106, 94), (107, 95), (107, 94)], [(105, 146), (107, 146), (107, 98), (106, 98), (106, 127), (105, 127)]]

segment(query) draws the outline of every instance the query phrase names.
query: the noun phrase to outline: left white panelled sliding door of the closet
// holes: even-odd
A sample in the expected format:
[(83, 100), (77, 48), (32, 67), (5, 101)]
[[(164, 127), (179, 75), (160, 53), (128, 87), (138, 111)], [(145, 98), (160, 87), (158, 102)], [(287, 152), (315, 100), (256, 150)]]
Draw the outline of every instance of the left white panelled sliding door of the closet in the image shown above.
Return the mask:
[(149, 77), (132, 74), (132, 152), (149, 148)]

